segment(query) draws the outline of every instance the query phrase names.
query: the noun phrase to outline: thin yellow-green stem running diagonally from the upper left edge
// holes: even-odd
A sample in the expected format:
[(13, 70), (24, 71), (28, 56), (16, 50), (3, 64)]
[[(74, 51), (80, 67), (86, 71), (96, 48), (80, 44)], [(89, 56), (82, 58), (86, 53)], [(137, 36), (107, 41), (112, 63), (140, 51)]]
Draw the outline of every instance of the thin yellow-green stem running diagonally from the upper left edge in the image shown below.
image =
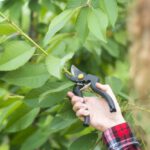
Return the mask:
[(25, 32), (23, 32), (22, 29), (20, 29), (12, 20), (7, 18), (2, 12), (0, 12), (0, 16), (4, 18), (15, 30), (17, 30), (23, 37), (25, 37), (28, 41), (30, 41), (36, 48), (41, 50), (45, 55), (48, 55), (48, 53), (35, 41), (33, 41)]

